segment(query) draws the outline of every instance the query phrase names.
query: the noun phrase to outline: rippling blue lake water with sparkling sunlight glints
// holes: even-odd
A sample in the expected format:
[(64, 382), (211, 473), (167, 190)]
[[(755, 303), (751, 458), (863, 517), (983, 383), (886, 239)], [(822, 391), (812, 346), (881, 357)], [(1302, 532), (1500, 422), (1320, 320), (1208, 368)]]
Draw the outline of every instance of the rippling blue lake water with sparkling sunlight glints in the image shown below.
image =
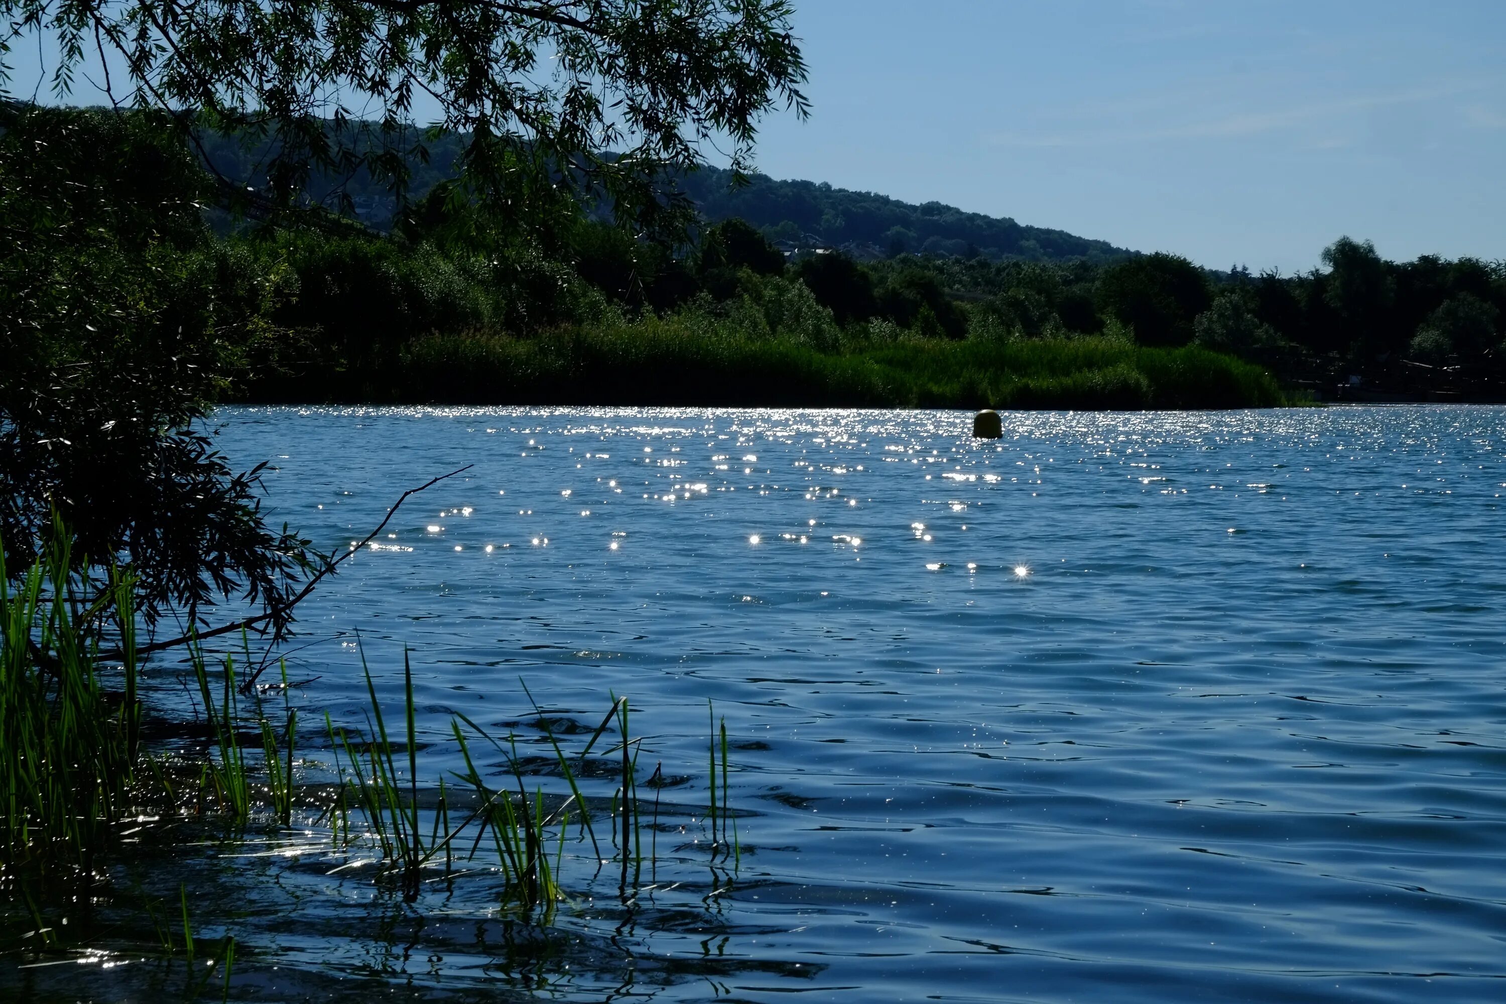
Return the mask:
[(392, 698), (408, 646), (438, 775), (453, 712), (527, 732), (520, 677), (563, 729), (626, 694), (684, 808), (711, 700), (742, 849), (696, 864), (691, 813), (678, 888), (586, 872), (535, 981), (479, 879), (384, 906), (411, 941), (264, 962), (547, 999), (1506, 999), (1506, 409), (970, 418), (224, 411), (325, 548), (471, 465), (306, 604), (301, 706), (358, 724), (355, 632)]

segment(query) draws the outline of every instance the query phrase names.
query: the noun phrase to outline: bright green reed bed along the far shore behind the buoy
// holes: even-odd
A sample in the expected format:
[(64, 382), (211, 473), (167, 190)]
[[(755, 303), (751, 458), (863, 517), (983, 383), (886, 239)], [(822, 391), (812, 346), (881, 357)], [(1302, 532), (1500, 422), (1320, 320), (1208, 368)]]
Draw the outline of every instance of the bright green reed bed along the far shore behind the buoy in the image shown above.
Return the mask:
[(264, 373), (244, 403), (1208, 409), (1295, 403), (1264, 369), (1125, 339), (748, 339), (648, 318), (530, 339), (434, 334), (358, 366)]

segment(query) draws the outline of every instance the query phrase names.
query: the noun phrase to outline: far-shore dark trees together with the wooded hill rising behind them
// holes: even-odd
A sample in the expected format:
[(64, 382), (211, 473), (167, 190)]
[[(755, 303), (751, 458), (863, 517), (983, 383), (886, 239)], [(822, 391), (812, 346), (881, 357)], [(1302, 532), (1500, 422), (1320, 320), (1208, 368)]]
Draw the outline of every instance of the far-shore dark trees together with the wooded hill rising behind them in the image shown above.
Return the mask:
[[(256, 175), (255, 145), (199, 143), (221, 172)], [(938, 203), (764, 176), (733, 187), (714, 169), (676, 181), (705, 214), (684, 241), (634, 239), (574, 205), (533, 220), (529, 239), (498, 239), (453, 205), (446, 179), (458, 152), (455, 137), (440, 137), (411, 164), (405, 209), (357, 170), (310, 181), (310, 199), (343, 220), (220, 227), (221, 244), (255, 262), (247, 274), (262, 275), (268, 330), (297, 333), (264, 354), (248, 393), (291, 394), (298, 373), (370, 367), (428, 334), (532, 337), (643, 312), (825, 351), (895, 337), (1196, 342), (1319, 399), (1506, 393), (1500, 262), (1387, 262), (1340, 238), (1310, 272), (1212, 272)], [(884, 253), (810, 247), (812, 236)]]

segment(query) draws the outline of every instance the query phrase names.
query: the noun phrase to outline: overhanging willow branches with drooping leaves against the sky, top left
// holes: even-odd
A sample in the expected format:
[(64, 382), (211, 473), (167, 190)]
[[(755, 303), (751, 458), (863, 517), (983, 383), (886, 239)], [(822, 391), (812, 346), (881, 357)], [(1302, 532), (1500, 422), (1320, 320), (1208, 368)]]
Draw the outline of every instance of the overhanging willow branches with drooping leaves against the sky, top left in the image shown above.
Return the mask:
[(807, 110), (788, 0), (0, 0), (0, 14), (15, 26), (0, 71), (9, 47), (50, 36), (57, 93), (93, 66), (111, 101), (261, 140), (261, 194), (277, 205), (310, 172), (361, 169), (404, 199), (408, 166), (449, 131), (467, 137), (456, 199), (526, 218), (575, 190), (655, 224), (679, 202), (663, 175), (708, 151), (741, 172), (764, 114)]

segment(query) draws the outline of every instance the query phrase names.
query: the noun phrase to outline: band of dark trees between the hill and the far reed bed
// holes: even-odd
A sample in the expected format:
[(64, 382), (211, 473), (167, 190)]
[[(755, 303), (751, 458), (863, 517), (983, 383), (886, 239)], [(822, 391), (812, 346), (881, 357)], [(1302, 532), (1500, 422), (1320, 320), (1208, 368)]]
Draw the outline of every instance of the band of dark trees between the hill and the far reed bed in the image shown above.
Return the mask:
[[(1500, 396), (1506, 378), (1500, 263), (1387, 262), (1348, 238), (1324, 251), (1325, 269), (1251, 275), (1172, 254), (1110, 263), (786, 257), (741, 220), (708, 226), (678, 250), (584, 215), (559, 236), (553, 256), (491, 257), (416, 226), (392, 236), (267, 232), (232, 244), (283, 277), (273, 321), (307, 333), (300, 345), (324, 352), (309, 361), (337, 366), (375, 364), (431, 334), (526, 339), (681, 316), (706, 337), (786, 339), (822, 352), (964, 339), (1196, 345), (1321, 399), (1483, 400)], [(261, 382), (267, 393), (274, 385)]]

